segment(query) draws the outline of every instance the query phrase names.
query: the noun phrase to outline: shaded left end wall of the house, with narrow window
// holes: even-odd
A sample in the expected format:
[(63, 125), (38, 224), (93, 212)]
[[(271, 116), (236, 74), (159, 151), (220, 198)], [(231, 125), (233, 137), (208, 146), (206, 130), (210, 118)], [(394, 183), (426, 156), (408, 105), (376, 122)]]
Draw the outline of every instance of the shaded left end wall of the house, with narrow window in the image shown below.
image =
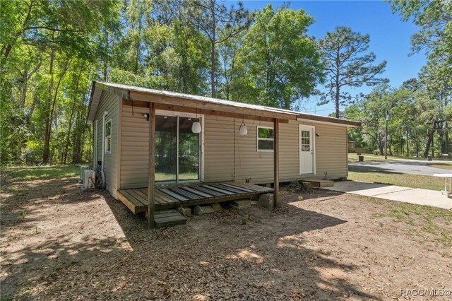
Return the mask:
[[(97, 160), (102, 160), (102, 143), (104, 137), (102, 136), (102, 117), (105, 111), (108, 112), (105, 117), (105, 122), (112, 119), (112, 152), (105, 153), (104, 157), (104, 173), (105, 186), (107, 190), (116, 196), (117, 186), (117, 153), (118, 153), (118, 96), (112, 93), (102, 91), (100, 98), (100, 105), (97, 107), (97, 112), (94, 119), (97, 120)], [(97, 166), (97, 164), (96, 164)]]

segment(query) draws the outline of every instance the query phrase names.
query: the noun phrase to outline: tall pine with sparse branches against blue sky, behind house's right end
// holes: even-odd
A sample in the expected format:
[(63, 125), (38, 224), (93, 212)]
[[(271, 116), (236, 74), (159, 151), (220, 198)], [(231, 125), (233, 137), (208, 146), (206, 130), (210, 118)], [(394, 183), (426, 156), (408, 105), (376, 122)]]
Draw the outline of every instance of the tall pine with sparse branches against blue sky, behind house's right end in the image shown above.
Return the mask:
[(386, 81), (376, 78), (384, 71), (386, 61), (373, 65), (375, 54), (366, 53), (369, 41), (369, 35), (361, 35), (347, 27), (337, 27), (319, 40), (327, 73), (327, 91), (321, 95), (319, 105), (333, 101), (336, 118), (340, 117), (340, 105), (346, 105), (352, 100), (352, 95), (345, 90), (346, 87), (358, 88), (364, 84), (373, 86)]

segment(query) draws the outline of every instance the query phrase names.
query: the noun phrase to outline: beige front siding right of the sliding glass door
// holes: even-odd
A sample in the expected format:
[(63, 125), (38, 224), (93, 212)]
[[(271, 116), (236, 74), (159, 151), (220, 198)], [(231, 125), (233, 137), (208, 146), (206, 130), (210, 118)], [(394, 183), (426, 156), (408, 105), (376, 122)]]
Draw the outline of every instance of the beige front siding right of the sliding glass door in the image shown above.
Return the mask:
[[(273, 152), (257, 151), (257, 126), (273, 127), (273, 123), (246, 119), (244, 122), (248, 134), (240, 136), (242, 120), (236, 119), (234, 124), (234, 119), (205, 117), (206, 182), (234, 179), (256, 184), (273, 182)], [(316, 175), (299, 175), (299, 124), (316, 126), (320, 135), (316, 137)], [(280, 181), (322, 179), (325, 172), (328, 178), (347, 177), (346, 137), (347, 128), (335, 124), (292, 121), (280, 124)]]

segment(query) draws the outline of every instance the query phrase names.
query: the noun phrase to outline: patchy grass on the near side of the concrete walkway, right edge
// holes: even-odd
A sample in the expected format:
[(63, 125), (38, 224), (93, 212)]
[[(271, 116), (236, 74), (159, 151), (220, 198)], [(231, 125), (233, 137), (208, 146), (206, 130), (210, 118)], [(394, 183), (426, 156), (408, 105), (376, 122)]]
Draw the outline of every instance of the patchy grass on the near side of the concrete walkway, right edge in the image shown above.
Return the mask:
[(413, 226), (414, 231), (432, 234), (436, 240), (446, 246), (452, 246), (452, 211), (432, 206), (420, 206), (410, 203), (397, 203), (387, 213), (388, 216)]

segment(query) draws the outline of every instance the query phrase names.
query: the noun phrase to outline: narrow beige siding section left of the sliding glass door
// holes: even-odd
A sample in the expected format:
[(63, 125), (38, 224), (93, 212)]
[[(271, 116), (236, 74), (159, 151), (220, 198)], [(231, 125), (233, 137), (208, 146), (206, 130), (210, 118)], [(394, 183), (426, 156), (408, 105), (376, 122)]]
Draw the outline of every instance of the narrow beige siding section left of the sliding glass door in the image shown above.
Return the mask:
[(122, 106), (120, 187), (148, 187), (149, 123), (145, 107)]

